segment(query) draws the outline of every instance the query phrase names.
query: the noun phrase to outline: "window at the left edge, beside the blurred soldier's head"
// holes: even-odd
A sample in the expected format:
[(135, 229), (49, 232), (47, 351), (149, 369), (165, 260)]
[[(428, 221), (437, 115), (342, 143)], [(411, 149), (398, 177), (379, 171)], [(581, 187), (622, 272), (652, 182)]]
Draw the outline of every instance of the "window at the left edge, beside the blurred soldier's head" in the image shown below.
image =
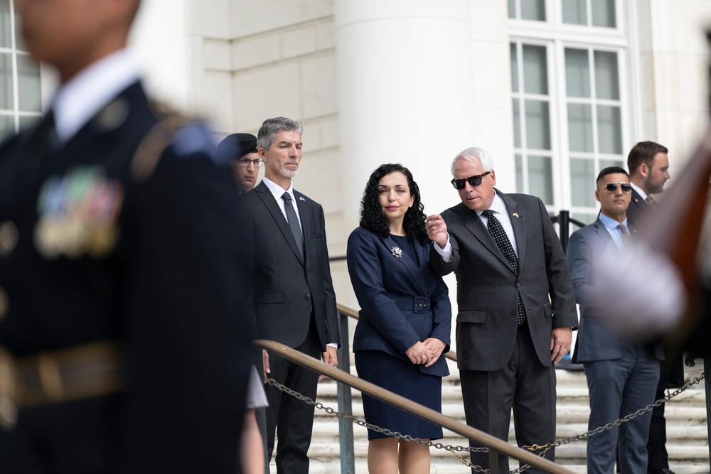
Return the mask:
[(40, 70), (23, 51), (13, 0), (0, 0), (0, 140), (36, 122)]

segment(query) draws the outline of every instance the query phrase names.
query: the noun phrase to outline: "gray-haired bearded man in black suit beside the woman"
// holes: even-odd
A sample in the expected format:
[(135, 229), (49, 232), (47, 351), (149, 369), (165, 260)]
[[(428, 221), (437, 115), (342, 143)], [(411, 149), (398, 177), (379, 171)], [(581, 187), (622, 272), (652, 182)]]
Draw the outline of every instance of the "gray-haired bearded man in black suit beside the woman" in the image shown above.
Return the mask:
[[(340, 345), (336, 294), (326, 246), (324, 209), (294, 190), (301, 162), (299, 122), (267, 119), (257, 134), (264, 179), (242, 196), (259, 246), (255, 278), (257, 333), (311, 357), (338, 365)], [(263, 352), (264, 372), (311, 399), (319, 375), (306, 367)], [(314, 407), (267, 386), (267, 450), (271, 457), (277, 431), (277, 473), (309, 472)]]

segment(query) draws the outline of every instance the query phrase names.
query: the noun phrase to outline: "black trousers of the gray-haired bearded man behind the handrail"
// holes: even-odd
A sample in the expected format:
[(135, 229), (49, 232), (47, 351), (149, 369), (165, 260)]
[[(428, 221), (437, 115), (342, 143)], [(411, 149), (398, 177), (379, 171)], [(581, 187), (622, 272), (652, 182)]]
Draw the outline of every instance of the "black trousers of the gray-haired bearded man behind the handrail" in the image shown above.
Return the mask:
[[(319, 335), (311, 316), (309, 333), (296, 350), (316, 359), (321, 358)], [(295, 362), (269, 355), (269, 378), (284, 384), (305, 397), (316, 399), (319, 374)], [(314, 406), (267, 385), (267, 452), (269, 460), (277, 443), (277, 474), (306, 474), (309, 472), (309, 446), (314, 428)], [(276, 436), (275, 433), (276, 432)]]

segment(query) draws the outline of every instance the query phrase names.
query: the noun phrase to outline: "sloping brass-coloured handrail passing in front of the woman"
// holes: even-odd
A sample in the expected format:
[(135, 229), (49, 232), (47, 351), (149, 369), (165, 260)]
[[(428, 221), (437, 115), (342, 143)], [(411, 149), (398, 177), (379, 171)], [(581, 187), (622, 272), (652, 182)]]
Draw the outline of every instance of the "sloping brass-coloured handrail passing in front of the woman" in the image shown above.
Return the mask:
[(489, 448), (491, 474), (508, 473), (509, 457), (515, 458), (525, 464), (535, 466), (536, 468), (540, 468), (546, 473), (574, 474), (572, 470), (563, 468), (560, 465), (552, 463), (550, 460), (540, 458), (529, 451), (518, 448), (517, 446), (512, 446), (506, 443), (506, 441), (502, 441), (501, 439), (495, 438), (488, 433), (484, 433), (483, 431), (479, 431), (471, 426), (460, 423), (449, 416), (443, 415), (439, 411), (434, 411), (426, 406), (412, 402), (410, 399), (394, 394), (388, 390), (378, 387), (378, 385), (366, 382), (363, 379), (359, 379), (358, 377), (355, 377), (350, 373), (343, 372), (343, 370), (339, 370), (336, 367), (331, 367), (320, 360), (314, 359), (314, 357), (304, 355), (298, 350), (289, 348), (284, 344), (264, 339), (255, 340), (254, 344), (270, 352), (274, 352), (280, 357), (284, 357), (284, 359), (295, 362), (303, 367), (307, 367), (314, 372), (319, 372), (319, 374), (326, 375), (326, 377), (331, 377), (342, 384), (358, 389), (360, 392), (370, 395), (370, 397), (375, 397), (387, 404), (405, 410), (410, 414), (419, 416), (419, 418), (447, 428), (449, 431), (453, 431), (460, 436), (476, 441), (476, 443), (481, 444), (481, 446), (486, 446)]

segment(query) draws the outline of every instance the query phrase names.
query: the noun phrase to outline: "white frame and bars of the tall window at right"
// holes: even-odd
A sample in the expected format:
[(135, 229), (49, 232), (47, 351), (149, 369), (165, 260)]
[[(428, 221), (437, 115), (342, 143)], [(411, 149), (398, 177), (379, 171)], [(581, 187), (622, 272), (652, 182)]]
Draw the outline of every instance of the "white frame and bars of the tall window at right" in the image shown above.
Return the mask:
[[(525, 96), (520, 85), (523, 83), (523, 70), (520, 65), (523, 62), (521, 58), (521, 50), (523, 45), (545, 45), (547, 50), (547, 76), (548, 76), (548, 97), (550, 100), (550, 139), (552, 153), (552, 195), (553, 204), (546, 205), (549, 212), (557, 214), (560, 210), (570, 210), (573, 215), (592, 215), (594, 212), (597, 215), (596, 208), (588, 207), (573, 207), (572, 206), (572, 185), (570, 179), (570, 160), (571, 156), (582, 156), (586, 153), (571, 152), (569, 147), (569, 130), (567, 119), (567, 85), (565, 77), (565, 48), (577, 48), (588, 51), (589, 60), (594, 61), (595, 51), (604, 51), (616, 53), (618, 66), (619, 80), (619, 107), (621, 119), (621, 155), (610, 155), (609, 153), (599, 153), (599, 144), (597, 122), (593, 126), (594, 140), (594, 169), (599, 172), (599, 161), (602, 159), (614, 159), (623, 162), (626, 166), (626, 151), (629, 150), (634, 136), (638, 136), (638, 119), (636, 115), (640, 113), (638, 106), (638, 92), (634, 87), (637, 84), (638, 72), (637, 64), (634, 61), (634, 53), (636, 52), (636, 43), (634, 35), (631, 32), (636, 30), (634, 16), (630, 15), (631, 5), (627, 0), (616, 0), (616, 28), (604, 28), (597, 26), (572, 25), (562, 23), (562, 5), (561, 0), (546, 0), (546, 21), (530, 21), (508, 18), (508, 33), (509, 43), (515, 44), (517, 50), (517, 65), (518, 65), (518, 92), (513, 92), (513, 84), (511, 87), (511, 107), (513, 114), (513, 100)], [(587, 1), (589, 9), (589, 1)], [(589, 18), (589, 23), (592, 18)], [(509, 50), (510, 51), (510, 50)], [(509, 58), (510, 61), (510, 58)], [(511, 64), (509, 62), (509, 64)], [(594, 80), (594, 69), (591, 68), (590, 75)], [(513, 78), (513, 75), (511, 75)], [(592, 90), (591, 90), (592, 92)], [(610, 99), (598, 99), (591, 93), (589, 103), (592, 106), (604, 105)], [(576, 102), (576, 101), (573, 101)], [(615, 104), (617, 105), (617, 104)], [(523, 115), (523, 111), (519, 110), (519, 117)], [(593, 117), (597, 117), (597, 110), (594, 111)], [(525, 136), (525, 122), (519, 118), (521, 125), (521, 146), (512, 144), (514, 161), (515, 156), (522, 156), (523, 176), (520, 177), (523, 181), (523, 193), (528, 193), (528, 169), (525, 166), (525, 153), (530, 153), (530, 149), (523, 148), (527, 142), (523, 139)], [(513, 124), (512, 124), (513, 129)], [(518, 181), (518, 179), (517, 179)]]

